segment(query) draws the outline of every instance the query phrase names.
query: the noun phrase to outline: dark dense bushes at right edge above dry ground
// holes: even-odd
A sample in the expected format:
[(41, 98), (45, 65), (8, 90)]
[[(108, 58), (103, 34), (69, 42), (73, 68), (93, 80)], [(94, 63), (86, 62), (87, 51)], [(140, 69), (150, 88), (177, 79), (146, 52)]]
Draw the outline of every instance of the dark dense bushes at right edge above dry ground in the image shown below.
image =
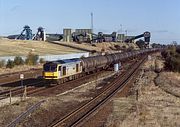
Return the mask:
[(180, 72), (180, 46), (169, 46), (161, 54), (165, 59), (165, 69)]

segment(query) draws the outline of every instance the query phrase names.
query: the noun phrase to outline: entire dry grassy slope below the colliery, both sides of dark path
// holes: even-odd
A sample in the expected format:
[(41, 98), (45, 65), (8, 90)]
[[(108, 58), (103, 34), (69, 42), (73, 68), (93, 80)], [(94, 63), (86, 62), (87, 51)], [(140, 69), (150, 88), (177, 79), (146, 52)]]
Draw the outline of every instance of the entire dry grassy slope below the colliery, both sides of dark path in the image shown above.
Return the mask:
[[(114, 46), (119, 45), (120, 47), (125, 46), (134, 47), (137, 49), (136, 44), (127, 44), (127, 43), (115, 43), (115, 42), (103, 42), (103, 43), (94, 43), (94, 46), (89, 43), (77, 44), (74, 42), (59, 42), (66, 45), (71, 45), (74, 47), (87, 49), (87, 50), (96, 50), (101, 52), (102, 49), (105, 52), (112, 53), (116, 49)], [(33, 51), (38, 55), (57, 55), (57, 54), (68, 54), (68, 53), (78, 53), (83, 52), (77, 49), (50, 44), (48, 42), (41, 41), (32, 41), (32, 40), (10, 40), (1, 38), (0, 39), (0, 56), (26, 56), (30, 51)]]

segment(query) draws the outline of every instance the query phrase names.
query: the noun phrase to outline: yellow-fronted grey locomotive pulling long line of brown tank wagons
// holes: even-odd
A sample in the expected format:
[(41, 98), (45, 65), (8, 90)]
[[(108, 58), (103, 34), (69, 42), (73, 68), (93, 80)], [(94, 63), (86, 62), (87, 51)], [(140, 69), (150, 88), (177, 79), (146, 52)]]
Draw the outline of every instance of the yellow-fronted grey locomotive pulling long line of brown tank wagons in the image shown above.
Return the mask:
[(128, 58), (136, 58), (162, 49), (151, 48), (132, 52), (114, 53), (108, 55), (92, 56), (47, 62), (43, 65), (43, 78), (48, 82), (63, 82), (79, 78), (90, 72), (118, 64)]

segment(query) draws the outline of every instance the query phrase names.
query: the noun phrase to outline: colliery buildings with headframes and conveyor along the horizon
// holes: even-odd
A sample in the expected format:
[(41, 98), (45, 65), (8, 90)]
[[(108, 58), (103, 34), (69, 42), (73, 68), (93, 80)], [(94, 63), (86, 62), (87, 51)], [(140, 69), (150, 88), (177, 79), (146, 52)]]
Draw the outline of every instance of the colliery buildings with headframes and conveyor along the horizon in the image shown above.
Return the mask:
[[(147, 33), (147, 34), (146, 34)], [(147, 37), (146, 37), (147, 36)], [(128, 42), (134, 43), (135, 39), (144, 37), (146, 42), (150, 38), (150, 33), (145, 32), (138, 36), (127, 36), (125, 34), (117, 34), (112, 32), (111, 34), (104, 34), (103, 32), (93, 33), (92, 29), (71, 29), (64, 28), (63, 34), (46, 34), (43, 27), (37, 29), (36, 34), (32, 33), (31, 28), (28, 25), (23, 27), (22, 32), (19, 35), (8, 36), (9, 39), (21, 39), (21, 40), (39, 40), (39, 41), (64, 41), (64, 42), (87, 42), (87, 43), (101, 43), (101, 42)]]

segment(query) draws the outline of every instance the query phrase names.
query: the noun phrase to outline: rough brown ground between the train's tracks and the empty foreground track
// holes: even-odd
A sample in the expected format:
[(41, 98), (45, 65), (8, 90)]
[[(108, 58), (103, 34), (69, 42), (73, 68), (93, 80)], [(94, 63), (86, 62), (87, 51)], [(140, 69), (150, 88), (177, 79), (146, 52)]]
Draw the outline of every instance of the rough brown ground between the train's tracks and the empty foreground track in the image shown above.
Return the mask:
[(72, 111), (72, 109), (90, 100), (96, 94), (96, 90), (101, 88), (98, 84), (103, 83), (106, 78), (111, 77), (112, 75), (114, 75), (114, 73), (100, 75), (95, 81), (82, 84), (77, 88), (73, 88), (65, 93), (58, 94), (57, 96), (36, 96), (36, 98), (28, 98), (24, 102), (18, 101), (12, 105), (3, 106), (0, 108), (0, 126), (6, 126), (19, 114), (27, 110), (30, 105), (32, 106), (44, 98), (46, 98), (46, 102), (44, 102), (38, 110), (23, 120), (18, 127), (48, 126), (52, 121), (56, 120), (56, 117), (61, 118), (63, 115), (67, 114), (67, 112)]

